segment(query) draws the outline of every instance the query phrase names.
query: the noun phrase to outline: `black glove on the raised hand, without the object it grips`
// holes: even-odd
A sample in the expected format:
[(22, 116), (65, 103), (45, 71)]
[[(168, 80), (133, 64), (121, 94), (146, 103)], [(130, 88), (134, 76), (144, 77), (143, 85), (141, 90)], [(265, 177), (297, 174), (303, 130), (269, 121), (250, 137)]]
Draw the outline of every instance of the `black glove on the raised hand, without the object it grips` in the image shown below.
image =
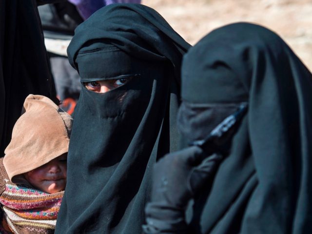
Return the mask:
[(145, 213), (147, 234), (187, 232), (185, 208), (189, 200), (215, 173), (223, 156), (208, 156), (200, 147), (192, 146), (168, 154), (154, 167), (152, 199)]

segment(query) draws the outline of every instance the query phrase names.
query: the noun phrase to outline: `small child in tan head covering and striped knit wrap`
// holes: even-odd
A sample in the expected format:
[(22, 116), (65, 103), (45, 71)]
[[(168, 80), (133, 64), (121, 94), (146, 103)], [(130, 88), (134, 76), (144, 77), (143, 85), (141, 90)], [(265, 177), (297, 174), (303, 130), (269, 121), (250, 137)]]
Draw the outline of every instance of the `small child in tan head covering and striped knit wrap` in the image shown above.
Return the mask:
[(29, 95), (0, 159), (0, 233), (54, 233), (66, 185), (72, 117)]

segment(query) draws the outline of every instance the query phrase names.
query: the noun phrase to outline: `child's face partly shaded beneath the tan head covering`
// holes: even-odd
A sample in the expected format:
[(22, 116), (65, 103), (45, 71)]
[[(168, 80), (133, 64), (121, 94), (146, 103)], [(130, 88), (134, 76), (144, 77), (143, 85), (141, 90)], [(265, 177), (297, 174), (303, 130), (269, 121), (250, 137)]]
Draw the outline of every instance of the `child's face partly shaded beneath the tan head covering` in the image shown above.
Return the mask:
[(54, 194), (63, 191), (66, 186), (67, 153), (48, 163), (26, 172), (28, 182), (43, 192)]

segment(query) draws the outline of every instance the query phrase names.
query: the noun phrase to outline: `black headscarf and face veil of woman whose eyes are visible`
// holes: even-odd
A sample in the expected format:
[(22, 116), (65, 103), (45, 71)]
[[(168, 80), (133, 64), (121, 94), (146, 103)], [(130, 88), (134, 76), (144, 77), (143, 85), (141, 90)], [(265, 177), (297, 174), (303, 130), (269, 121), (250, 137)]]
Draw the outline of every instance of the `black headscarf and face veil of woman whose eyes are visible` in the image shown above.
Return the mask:
[(82, 82), (132, 77), (104, 94), (82, 88), (56, 233), (138, 234), (151, 166), (177, 149), (180, 63), (189, 48), (153, 9), (112, 4), (68, 47)]

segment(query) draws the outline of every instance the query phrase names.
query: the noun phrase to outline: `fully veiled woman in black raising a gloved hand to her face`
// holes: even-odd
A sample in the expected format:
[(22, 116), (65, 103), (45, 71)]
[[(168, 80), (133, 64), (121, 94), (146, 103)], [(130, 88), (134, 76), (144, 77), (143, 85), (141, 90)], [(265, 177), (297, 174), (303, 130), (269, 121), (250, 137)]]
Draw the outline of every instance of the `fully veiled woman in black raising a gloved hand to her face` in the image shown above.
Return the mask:
[(259, 25), (218, 28), (184, 56), (181, 97), (193, 146), (156, 163), (146, 233), (312, 233), (312, 75), (290, 47)]

